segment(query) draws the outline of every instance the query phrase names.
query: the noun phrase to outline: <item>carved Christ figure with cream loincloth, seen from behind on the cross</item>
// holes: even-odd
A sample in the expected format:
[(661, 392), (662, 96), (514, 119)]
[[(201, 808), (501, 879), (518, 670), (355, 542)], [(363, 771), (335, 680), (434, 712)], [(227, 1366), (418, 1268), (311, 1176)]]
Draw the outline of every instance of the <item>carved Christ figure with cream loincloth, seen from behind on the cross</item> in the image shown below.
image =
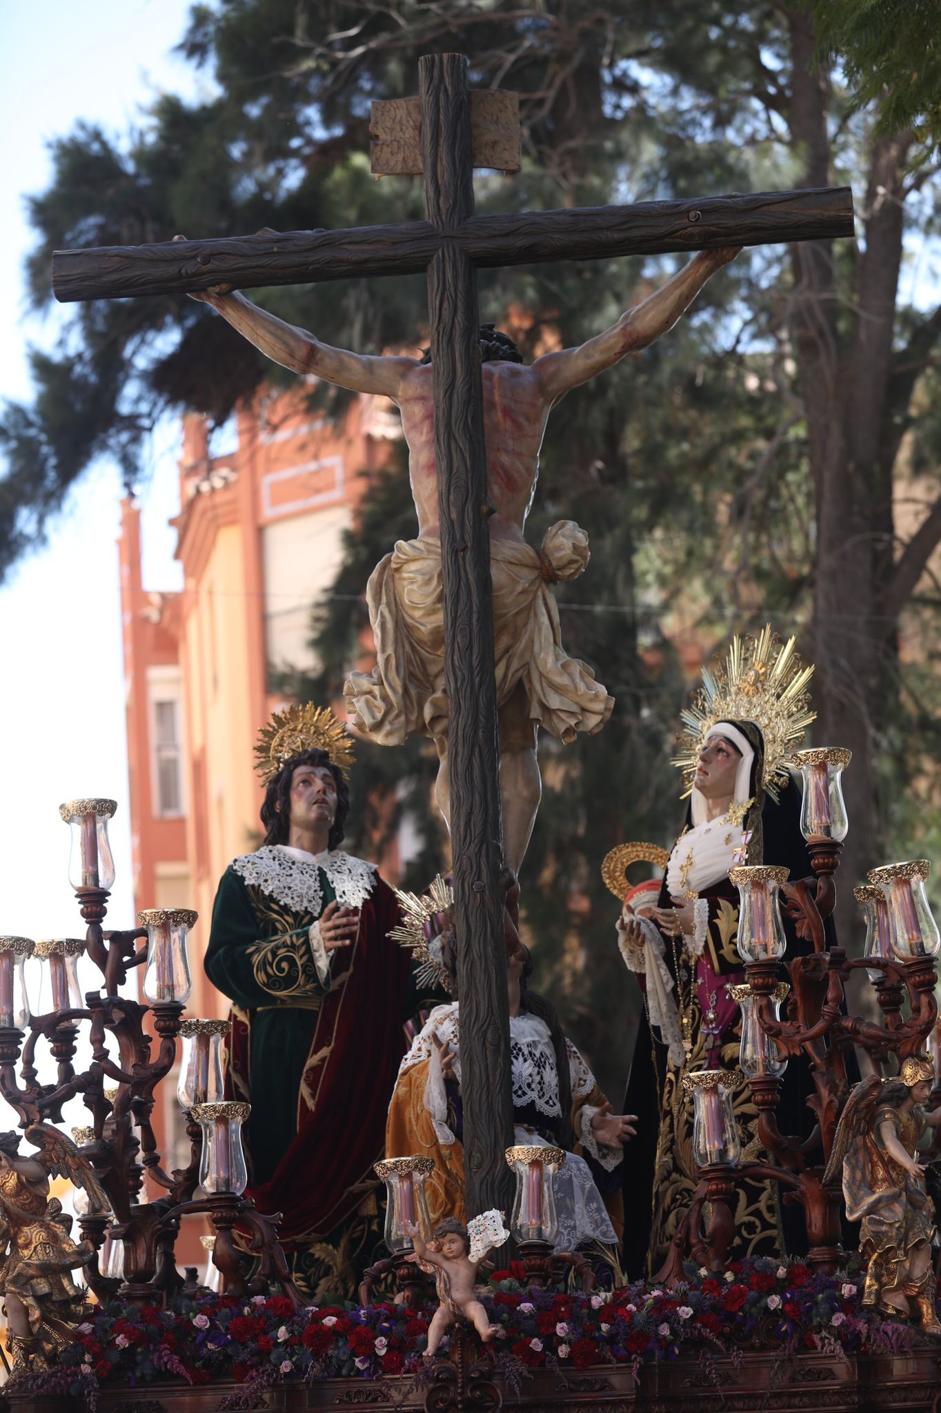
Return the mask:
[[(179, 237), (178, 237), (179, 239)], [(550, 411), (598, 373), (649, 348), (674, 326), (709, 276), (736, 249), (704, 250), (641, 304), (581, 348), (544, 353), (524, 365), (516, 345), (490, 326), (480, 331), (483, 417), (493, 578), (493, 639), (500, 726), (500, 803), (504, 862), (519, 873), (541, 797), (537, 736), (543, 726), (564, 742), (600, 731), (613, 706), (585, 663), (561, 644), (550, 584), (571, 579), (588, 562), (588, 537), (571, 520), (547, 533), (535, 551), (523, 538)], [(283, 367), (314, 374), (353, 393), (379, 393), (401, 413), (410, 452), (418, 537), (400, 541), (376, 567), (367, 601), (376, 637), (372, 675), (353, 673), (346, 698), (355, 723), (380, 745), (431, 736), (438, 749), (437, 798), (451, 822), (448, 698), (444, 684), (444, 622), (438, 472), (432, 372), (425, 359), (350, 353), (267, 314), (242, 294), (218, 285), (192, 298), (212, 305)]]

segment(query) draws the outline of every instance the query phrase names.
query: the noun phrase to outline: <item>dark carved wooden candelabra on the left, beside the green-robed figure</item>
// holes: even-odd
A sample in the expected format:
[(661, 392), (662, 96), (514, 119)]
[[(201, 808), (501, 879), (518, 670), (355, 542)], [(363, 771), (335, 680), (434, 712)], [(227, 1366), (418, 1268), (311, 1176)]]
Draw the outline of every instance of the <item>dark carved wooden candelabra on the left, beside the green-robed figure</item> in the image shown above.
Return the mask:
[[(140, 945), (147, 930), (105, 931), (109, 893), (103, 887), (82, 886), (76, 897), (88, 924), (85, 951), (102, 972), (103, 985), (86, 993), (83, 1007), (31, 1016), (28, 1034), (17, 1026), (0, 1027), (0, 1094), (18, 1113), (21, 1128), (61, 1122), (62, 1106), (76, 1095), (90, 1111), (82, 1156), (95, 1169), (112, 1212), (86, 1212), (78, 1218), (82, 1236), (95, 1248), (82, 1267), (89, 1289), (99, 1300), (117, 1294), (136, 1304), (160, 1304), (184, 1283), (174, 1259), (181, 1218), (187, 1212), (205, 1212), (216, 1232), (212, 1260), (222, 1272), (223, 1289), (236, 1296), (257, 1293), (274, 1279), (300, 1306), (277, 1241), (280, 1214), (256, 1212), (250, 1198), (235, 1193), (196, 1198), (202, 1129), (191, 1115), (189, 1161), (172, 1173), (164, 1170), (151, 1123), (154, 1092), (177, 1058), (184, 1005), (165, 1000), (146, 1006), (119, 995), (129, 971), (147, 961), (148, 948)], [(155, 1054), (153, 1037), (144, 1029), (147, 1015), (155, 1031)], [(85, 1022), (92, 1061), (76, 1072), (76, 1041)], [(40, 1082), (40, 1039), (57, 1061), (55, 1082)], [(146, 1176), (161, 1190), (153, 1201), (144, 1190)], [(250, 1262), (235, 1245), (235, 1228), (244, 1234), (249, 1256), (257, 1258), (251, 1277)], [(123, 1243), (123, 1280), (106, 1276), (99, 1265), (109, 1234)]]

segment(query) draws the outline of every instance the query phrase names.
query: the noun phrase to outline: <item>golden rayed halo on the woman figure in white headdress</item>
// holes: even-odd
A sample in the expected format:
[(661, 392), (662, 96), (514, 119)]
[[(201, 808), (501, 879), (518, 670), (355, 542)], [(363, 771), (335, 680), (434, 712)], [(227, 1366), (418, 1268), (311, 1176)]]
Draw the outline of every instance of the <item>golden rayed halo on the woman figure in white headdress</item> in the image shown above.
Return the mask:
[(716, 658), (702, 668), (702, 687), (680, 714), (685, 731), (674, 766), (682, 770), (685, 800), (692, 791), (699, 752), (712, 726), (721, 721), (753, 721), (764, 738), (763, 786), (777, 800), (794, 763), (794, 750), (817, 718), (807, 685), (814, 664), (794, 651), (794, 636), (781, 643), (767, 623), (757, 637), (732, 639), (725, 663)]

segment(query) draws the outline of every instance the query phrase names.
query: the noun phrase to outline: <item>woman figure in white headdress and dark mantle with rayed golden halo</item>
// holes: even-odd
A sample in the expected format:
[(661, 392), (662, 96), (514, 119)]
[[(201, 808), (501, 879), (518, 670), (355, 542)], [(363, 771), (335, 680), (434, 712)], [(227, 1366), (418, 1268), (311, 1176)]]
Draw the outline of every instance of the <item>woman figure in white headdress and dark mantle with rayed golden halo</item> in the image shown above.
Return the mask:
[[(740, 1010), (730, 988), (745, 982), (736, 950), (736, 863), (771, 863), (791, 879), (811, 870), (800, 831), (800, 788), (788, 760), (807, 725), (807, 682), (812, 667), (766, 629), (735, 640), (725, 667), (704, 673), (704, 690), (690, 712), (685, 755), (684, 828), (667, 861), (660, 896), (627, 903), (617, 940), (644, 993), (625, 1108), (639, 1115), (632, 1149), (630, 1202), (650, 1212), (650, 1228), (629, 1224), (625, 1263), (632, 1277), (656, 1275), (692, 1201), (692, 1112), (684, 1071), (735, 1070)], [(787, 958), (810, 951), (786, 920)], [(808, 1137), (814, 1128), (805, 1058), (791, 1058), (777, 1111), (783, 1132)], [(745, 1157), (767, 1154), (753, 1132), (757, 1111), (747, 1087), (735, 1095)], [(781, 1208), (770, 1180), (738, 1184), (735, 1256), (781, 1255), (805, 1245), (803, 1215)]]

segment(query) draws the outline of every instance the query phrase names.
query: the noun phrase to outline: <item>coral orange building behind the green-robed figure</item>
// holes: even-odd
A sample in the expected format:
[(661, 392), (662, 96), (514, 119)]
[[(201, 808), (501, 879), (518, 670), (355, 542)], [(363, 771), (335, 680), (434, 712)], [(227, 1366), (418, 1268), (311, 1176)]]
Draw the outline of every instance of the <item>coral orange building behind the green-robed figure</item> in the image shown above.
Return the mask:
[[(211, 456), (203, 418), (184, 418), (181, 512), (174, 521), (184, 588), (141, 582), (140, 512), (122, 507), (120, 575), (136, 909), (195, 907), (191, 1016), (222, 1016), (202, 951), (229, 861), (260, 842), (259, 728), (283, 698), (271, 668), (309, 668), (311, 608), (329, 588), (342, 533), (400, 437), (384, 400), (359, 397), (332, 421), (305, 390), (264, 394), (237, 414), (237, 448)], [(188, 1145), (172, 1098), (154, 1115), (164, 1166)]]

